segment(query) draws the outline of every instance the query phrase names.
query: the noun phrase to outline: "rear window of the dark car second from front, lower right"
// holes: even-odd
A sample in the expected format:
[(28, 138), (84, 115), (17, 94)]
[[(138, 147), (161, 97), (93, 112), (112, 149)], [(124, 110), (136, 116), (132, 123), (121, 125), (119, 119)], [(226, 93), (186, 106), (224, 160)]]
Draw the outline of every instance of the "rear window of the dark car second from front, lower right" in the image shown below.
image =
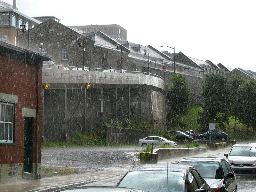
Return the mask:
[(203, 178), (222, 179), (220, 164), (208, 161), (182, 161), (178, 164), (191, 165), (196, 168)]

